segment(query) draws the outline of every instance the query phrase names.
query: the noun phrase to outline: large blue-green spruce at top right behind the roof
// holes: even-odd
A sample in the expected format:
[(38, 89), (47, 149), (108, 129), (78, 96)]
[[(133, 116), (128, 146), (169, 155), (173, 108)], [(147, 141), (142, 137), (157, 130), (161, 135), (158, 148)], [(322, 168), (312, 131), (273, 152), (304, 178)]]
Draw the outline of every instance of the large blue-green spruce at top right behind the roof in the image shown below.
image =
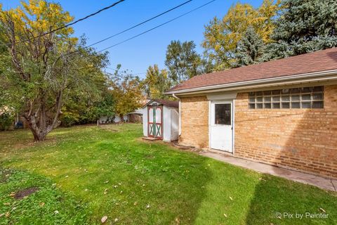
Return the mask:
[(337, 46), (336, 0), (284, 0), (265, 60)]

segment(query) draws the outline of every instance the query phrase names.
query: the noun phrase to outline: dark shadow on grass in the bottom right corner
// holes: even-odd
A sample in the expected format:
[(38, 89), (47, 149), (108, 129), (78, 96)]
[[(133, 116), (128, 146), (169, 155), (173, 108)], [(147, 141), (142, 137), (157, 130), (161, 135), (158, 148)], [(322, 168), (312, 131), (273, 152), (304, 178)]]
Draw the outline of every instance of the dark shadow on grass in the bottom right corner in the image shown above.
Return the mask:
[(337, 224), (336, 208), (336, 193), (263, 174), (246, 224)]

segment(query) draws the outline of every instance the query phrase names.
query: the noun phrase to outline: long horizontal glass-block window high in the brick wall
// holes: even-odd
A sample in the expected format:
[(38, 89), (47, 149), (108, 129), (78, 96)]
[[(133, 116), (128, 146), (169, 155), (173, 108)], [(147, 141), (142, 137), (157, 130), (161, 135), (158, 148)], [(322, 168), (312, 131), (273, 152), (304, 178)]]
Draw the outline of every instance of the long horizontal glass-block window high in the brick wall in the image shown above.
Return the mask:
[(249, 108), (324, 108), (324, 87), (249, 92)]

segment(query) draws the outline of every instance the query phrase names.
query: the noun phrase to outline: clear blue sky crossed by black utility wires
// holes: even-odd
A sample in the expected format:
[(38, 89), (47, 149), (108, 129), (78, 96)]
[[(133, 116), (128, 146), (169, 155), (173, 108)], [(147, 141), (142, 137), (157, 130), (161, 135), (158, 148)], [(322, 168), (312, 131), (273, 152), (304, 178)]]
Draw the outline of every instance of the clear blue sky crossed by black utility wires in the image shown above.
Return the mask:
[[(74, 20), (83, 18), (116, 1), (53, 0), (53, 2), (60, 3), (65, 11), (69, 11), (70, 15), (74, 16)], [(75, 24), (73, 26), (75, 31), (74, 36), (80, 37), (82, 34), (85, 34), (88, 38), (87, 44), (91, 44), (112, 34), (126, 30), (128, 27), (152, 18), (154, 15), (167, 11), (185, 1), (187, 0), (126, 0), (113, 8)], [(97, 44), (95, 48), (98, 51), (105, 49), (107, 46), (112, 46), (145, 30), (156, 27), (209, 1), (193, 0), (149, 23), (145, 23), (124, 34)], [(262, 1), (241, 0), (240, 2), (258, 7)], [(0, 2), (3, 4), (4, 10), (16, 8), (20, 5), (20, 0), (0, 0)], [(201, 54), (203, 52), (201, 42), (204, 39), (204, 25), (207, 25), (215, 16), (223, 18), (230, 6), (236, 2), (236, 0), (216, 0), (178, 20), (174, 20), (140, 37), (107, 50), (109, 51), (110, 65), (108, 66), (109, 68), (106, 68), (106, 71), (113, 72), (114, 70), (110, 68), (116, 68), (117, 64), (121, 64), (121, 69), (137, 74), (139, 77), (145, 77), (145, 72), (150, 65), (157, 64), (159, 68), (165, 68), (166, 47), (172, 40), (194, 41), (197, 45), (197, 52)]]

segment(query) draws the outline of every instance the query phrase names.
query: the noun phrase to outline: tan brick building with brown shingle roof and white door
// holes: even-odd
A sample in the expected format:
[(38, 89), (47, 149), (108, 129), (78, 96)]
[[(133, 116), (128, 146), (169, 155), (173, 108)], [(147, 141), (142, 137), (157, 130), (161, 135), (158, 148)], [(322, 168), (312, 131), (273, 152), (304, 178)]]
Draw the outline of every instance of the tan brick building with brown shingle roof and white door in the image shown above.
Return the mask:
[(337, 48), (199, 75), (180, 100), (179, 143), (337, 177)]

